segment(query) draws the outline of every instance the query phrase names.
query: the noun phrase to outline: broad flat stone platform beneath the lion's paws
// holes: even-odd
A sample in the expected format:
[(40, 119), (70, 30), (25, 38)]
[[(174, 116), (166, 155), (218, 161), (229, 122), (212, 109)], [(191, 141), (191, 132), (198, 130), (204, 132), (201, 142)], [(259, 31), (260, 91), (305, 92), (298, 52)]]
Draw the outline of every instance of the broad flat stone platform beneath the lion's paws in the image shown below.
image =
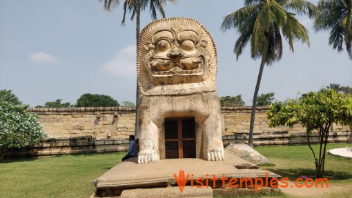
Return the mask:
[[(177, 192), (179, 188), (177, 187), (175, 175), (177, 178), (183, 178), (180, 176), (182, 175), (182, 171), (184, 171), (185, 178), (187, 175), (189, 176), (186, 188), (190, 190), (190, 193), (193, 193), (192, 191), (197, 189), (197, 184), (194, 183), (195, 186), (192, 188), (191, 183), (192, 179), (195, 181), (197, 178), (203, 178), (204, 180), (205, 178), (208, 178), (209, 190), (211, 190), (211, 188), (223, 188), (223, 185), (226, 188), (226, 186), (229, 186), (228, 181), (232, 178), (262, 178), (265, 182), (267, 178), (268, 183), (273, 178), (280, 179), (280, 175), (276, 175), (275, 173), (267, 170), (238, 170), (231, 164), (228, 164), (227, 160), (227, 158), (225, 161), (205, 161), (203, 159), (166, 159), (155, 161), (153, 164), (137, 164), (137, 157), (132, 157), (111, 168), (108, 172), (104, 173), (104, 175), (101, 175), (101, 177), (95, 179), (95, 181), (92, 181), (92, 184), (97, 188), (95, 195), (92, 197), (118, 197), (121, 195), (121, 192), (124, 194), (125, 190), (135, 190), (137, 188), (158, 188), (158, 190), (161, 190), (160, 194), (149, 197), (172, 197), (173, 195), (164, 195), (163, 190), (168, 191), (168, 188), (166, 188), (167, 186), (173, 187), (173, 189), (170, 190), (175, 190), (175, 194), (179, 195), (179, 192)], [(190, 166), (190, 164), (192, 164), (192, 166)], [(157, 172), (157, 174), (155, 174), (155, 172)], [(211, 180), (213, 177), (224, 177), (228, 179), (224, 184), (217, 181), (214, 184)], [(204, 180), (201, 182), (203, 182), (204, 186), (206, 186), (207, 183)], [(266, 184), (263, 185), (265, 186)], [(242, 189), (238, 192), (254, 192), (254, 189), (247, 189), (246, 191), (246, 186), (242, 186), (241, 188)], [(248, 188), (251, 188), (251, 186), (248, 186)], [(232, 190), (237, 191), (238, 189), (236, 188)], [(260, 190), (259, 192), (263, 191)], [(133, 194), (133, 192), (131, 193)], [(139, 195), (143, 196), (140, 193), (137, 193), (137, 196)], [(124, 197), (124, 195), (121, 195), (121, 197)]]

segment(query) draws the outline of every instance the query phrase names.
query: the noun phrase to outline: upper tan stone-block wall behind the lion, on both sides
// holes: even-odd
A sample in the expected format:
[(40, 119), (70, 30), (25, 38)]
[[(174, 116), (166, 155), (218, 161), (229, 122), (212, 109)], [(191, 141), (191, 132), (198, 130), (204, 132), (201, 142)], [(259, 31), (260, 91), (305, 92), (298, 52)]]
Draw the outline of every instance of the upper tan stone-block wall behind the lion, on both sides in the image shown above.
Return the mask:
[[(268, 108), (257, 108), (255, 115), (255, 134), (273, 132), (300, 133), (305, 129), (269, 128), (266, 119)], [(48, 138), (92, 137), (102, 139), (128, 139), (135, 132), (135, 108), (29, 108), (39, 115)], [(222, 135), (241, 135), (249, 131), (251, 107), (222, 108)], [(332, 132), (350, 131), (349, 126), (335, 125)]]

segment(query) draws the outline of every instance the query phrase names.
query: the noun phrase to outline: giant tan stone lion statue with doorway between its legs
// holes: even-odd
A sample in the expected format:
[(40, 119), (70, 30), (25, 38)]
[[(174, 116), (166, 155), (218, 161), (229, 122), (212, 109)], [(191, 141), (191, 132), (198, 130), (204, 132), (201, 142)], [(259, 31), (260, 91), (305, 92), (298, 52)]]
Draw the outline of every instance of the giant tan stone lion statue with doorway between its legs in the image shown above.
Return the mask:
[(142, 30), (137, 46), (139, 164), (165, 153), (162, 137), (169, 117), (194, 117), (197, 158), (224, 160), (216, 75), (215, 44), (199, 22), (160, 19)]

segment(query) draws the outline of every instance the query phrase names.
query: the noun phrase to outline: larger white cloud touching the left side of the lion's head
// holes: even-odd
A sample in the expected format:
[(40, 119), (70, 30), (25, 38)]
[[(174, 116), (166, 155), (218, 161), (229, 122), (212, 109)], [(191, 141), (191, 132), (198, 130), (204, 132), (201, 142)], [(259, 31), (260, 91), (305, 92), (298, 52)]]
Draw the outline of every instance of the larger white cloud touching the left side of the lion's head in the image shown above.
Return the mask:
[(136, 73), (136, 46), (130, 45), (115, 52), (113, 59), (101, 68), (116, 76), (135, 75)]

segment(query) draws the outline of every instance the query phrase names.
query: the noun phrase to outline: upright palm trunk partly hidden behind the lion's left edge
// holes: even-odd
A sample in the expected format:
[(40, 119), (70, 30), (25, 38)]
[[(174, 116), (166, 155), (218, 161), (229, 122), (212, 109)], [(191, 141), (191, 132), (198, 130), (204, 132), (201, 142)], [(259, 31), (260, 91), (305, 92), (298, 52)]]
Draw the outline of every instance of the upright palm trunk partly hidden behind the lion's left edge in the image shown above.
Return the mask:
[[(136, 46), (138, 47), (138, 38), (141, 26), (141, 0), (137, 0), (137, 19), (136, 19)], [(136, 88), (136, 119), (135, 119), (135, 137), (139, 137), (139, 86), (137, 77), (137, 88)]]

